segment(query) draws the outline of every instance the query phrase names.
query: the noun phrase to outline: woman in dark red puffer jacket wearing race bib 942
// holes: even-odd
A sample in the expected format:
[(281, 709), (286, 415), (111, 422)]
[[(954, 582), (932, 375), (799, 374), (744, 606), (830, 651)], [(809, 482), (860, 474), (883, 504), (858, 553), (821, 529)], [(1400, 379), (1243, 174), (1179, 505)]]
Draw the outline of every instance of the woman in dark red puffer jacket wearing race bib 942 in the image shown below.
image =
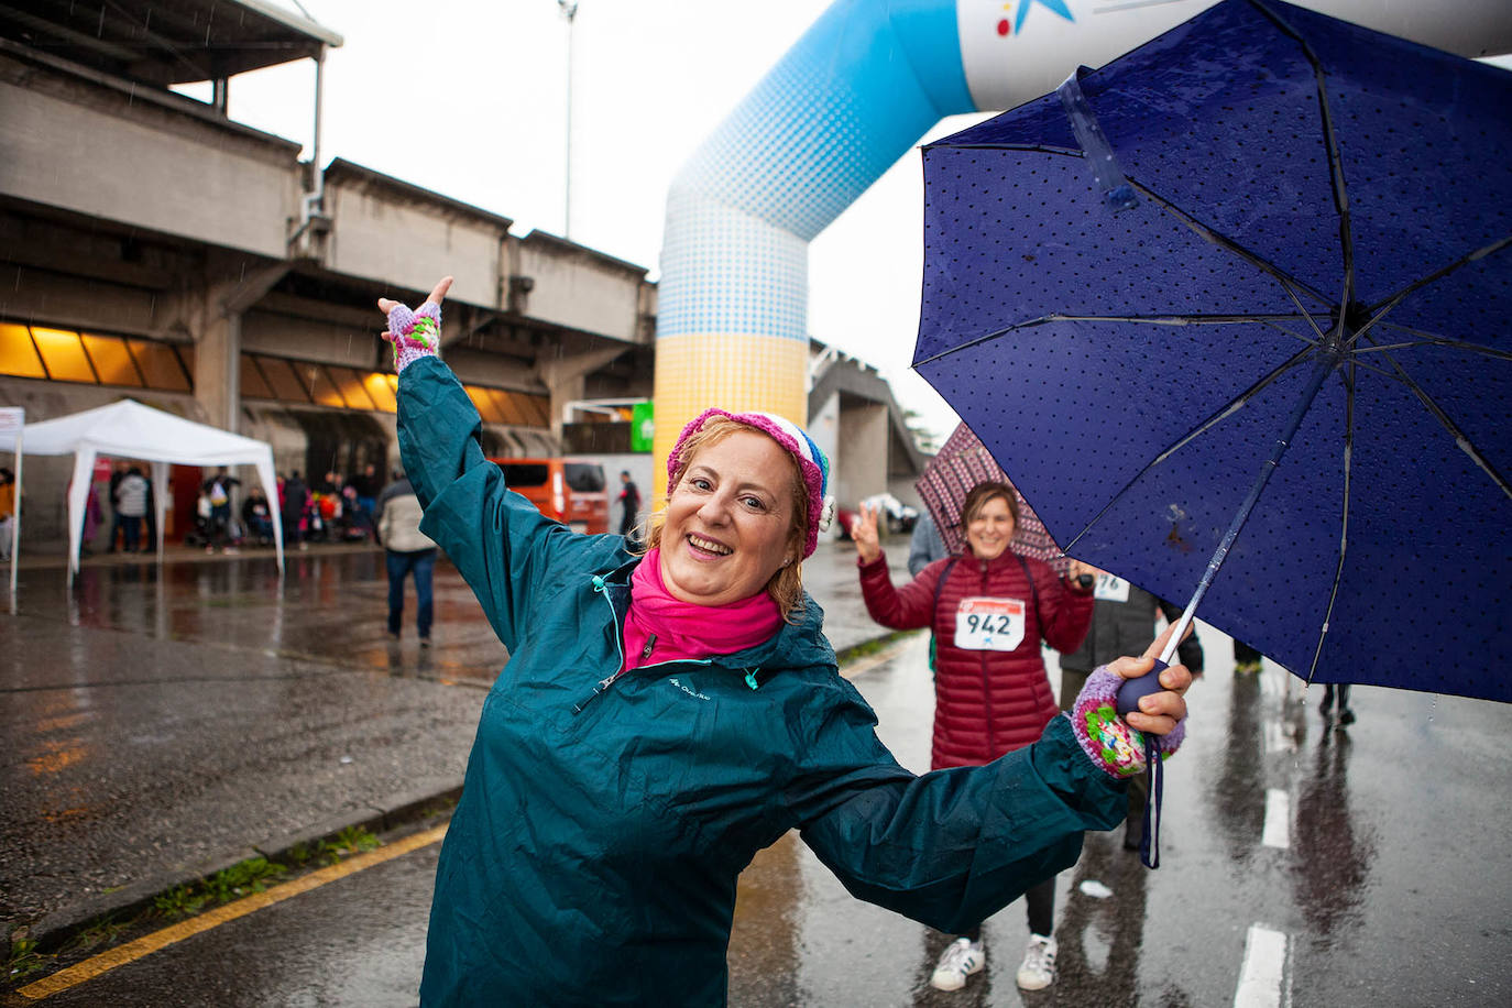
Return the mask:
[[(1092, 623), (1092, 589), (1077, 576), (1093, 568), (1072, 561), (1066, 582), (1049, 565), (1009, 549), (1018, 499), (1007, 484), (972, 487), (962, 506), (966, 553), (934, 561), (894, 588), (881, 555), (875, 512), (851, 529), (860, 588), (871, 618), (885, 627), (934, 632), (934, 745), (930, 769), (980, 766), (1040, 737), (1060, 710), (1040, 657), (1043, 639), (1058, 651), (1081, 645)], [(1025, 990), (1055, 979), (1055, 880), (1025, 893), (1030, 945), (1018, 972)], [(951, 942), (930, 984), (957, 990), (981, 970), (981, 928)]]

